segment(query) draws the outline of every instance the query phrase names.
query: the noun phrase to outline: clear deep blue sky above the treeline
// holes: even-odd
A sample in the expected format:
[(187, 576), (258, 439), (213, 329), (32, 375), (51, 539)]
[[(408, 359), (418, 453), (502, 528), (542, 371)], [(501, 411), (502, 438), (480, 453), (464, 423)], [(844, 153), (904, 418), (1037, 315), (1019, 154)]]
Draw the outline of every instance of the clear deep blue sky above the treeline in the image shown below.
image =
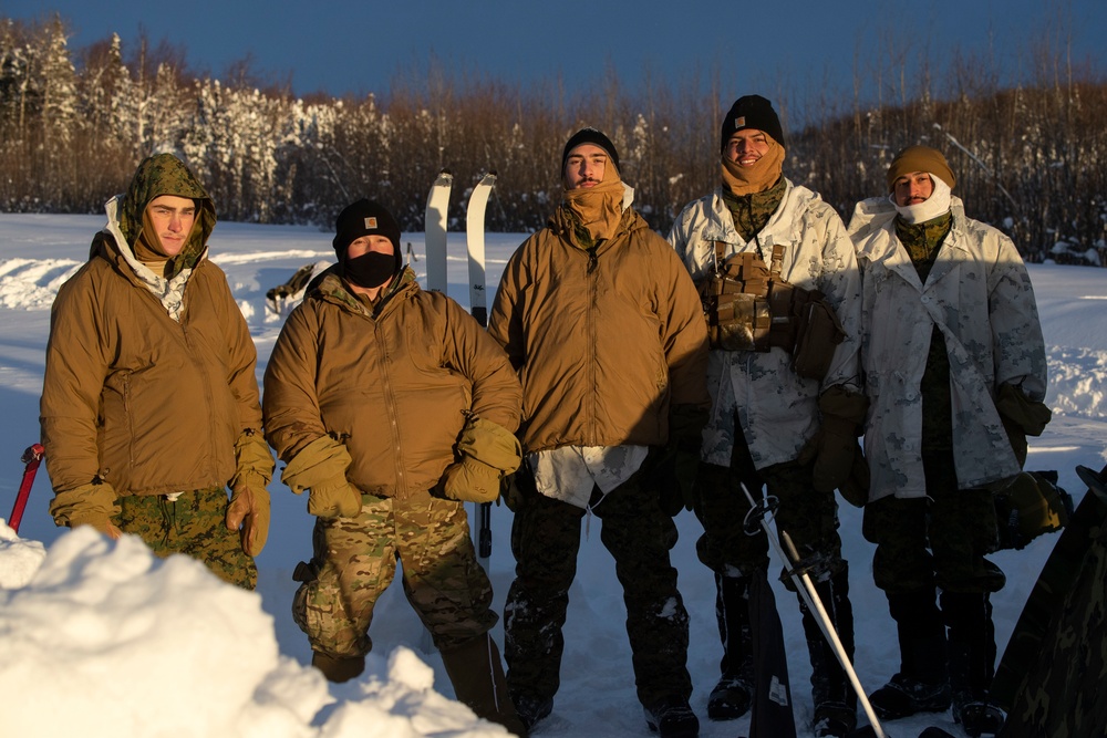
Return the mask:
[(717, 75), (726, 101), (852, 95), (855, 82), (871, 93), (897, 61), (910, 74), (955, 53), (993, 60), (1010, 84), (1027, 79), (1045, 43), (1101, 71), (1107, 31), (1105, 0), (0, 0), (8, 18), (52, 11), (70, 21), (71, 48), (114, 31), (126, 54), (142, 28), (183, 49), (194, 71), (224, 76), (249, 56), (262, 76), (291, 75), (300, 95), (384, 94), (397, 73), (425, 77), (431, 59), (505, 83), (560, 79), (570, 94), (610, 69), (632, 91), (646, 80), (706, 90)]

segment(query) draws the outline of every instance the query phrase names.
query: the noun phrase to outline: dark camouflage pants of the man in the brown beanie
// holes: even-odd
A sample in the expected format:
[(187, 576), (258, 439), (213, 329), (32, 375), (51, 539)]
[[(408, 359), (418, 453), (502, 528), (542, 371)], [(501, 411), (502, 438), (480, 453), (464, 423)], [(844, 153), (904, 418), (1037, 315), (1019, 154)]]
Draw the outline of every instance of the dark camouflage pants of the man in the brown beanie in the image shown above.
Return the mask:
[(861, 532), (877, 544), (872, 576), (886, 592), (999, 592), (995, 503), (986, 489), (958, 489), (952, 455), (923, 456), (925, 498), (883, 497), (865, 506)]

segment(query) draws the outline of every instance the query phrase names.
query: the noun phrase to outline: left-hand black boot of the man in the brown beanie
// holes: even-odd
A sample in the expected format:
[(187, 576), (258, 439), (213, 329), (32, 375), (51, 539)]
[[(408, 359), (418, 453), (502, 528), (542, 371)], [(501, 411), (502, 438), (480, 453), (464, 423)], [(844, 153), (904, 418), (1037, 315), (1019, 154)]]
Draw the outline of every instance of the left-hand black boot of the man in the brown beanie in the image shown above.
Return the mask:
[(869, 695), (872, 710), (884, 720), (944, 713), (950, 708), (945, 624), (934, 591), (889, 592), (888, 609), (899, 635), (900, 671)]

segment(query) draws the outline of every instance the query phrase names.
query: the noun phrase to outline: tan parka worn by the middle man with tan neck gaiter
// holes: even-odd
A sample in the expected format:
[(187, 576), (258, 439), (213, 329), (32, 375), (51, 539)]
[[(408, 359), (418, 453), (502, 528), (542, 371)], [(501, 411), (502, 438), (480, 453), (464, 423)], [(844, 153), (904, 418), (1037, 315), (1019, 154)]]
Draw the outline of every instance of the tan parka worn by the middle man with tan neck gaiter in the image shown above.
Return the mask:
[(488, 332), (524, 387), (523, 445), (659, 445), (669, 409), (706, 409), (707, 329), (695, 285), (632, 209), (594, 252), (563, 209), (513, 254)]

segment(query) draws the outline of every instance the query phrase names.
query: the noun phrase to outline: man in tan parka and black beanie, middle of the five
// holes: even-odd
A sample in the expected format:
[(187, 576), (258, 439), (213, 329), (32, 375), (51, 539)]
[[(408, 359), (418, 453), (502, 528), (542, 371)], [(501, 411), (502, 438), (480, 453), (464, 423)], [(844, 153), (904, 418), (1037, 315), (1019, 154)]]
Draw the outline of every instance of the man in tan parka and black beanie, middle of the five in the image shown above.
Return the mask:
[[(577, 132), (560, 175), (562, 202), (511, 257), (488, 322), (525, 377), (529, 468), (511, 502), (508, 685), (525, 724), (552, 710), (580, 522), (591, 513), (623, 588), (646, 723), (661, 738), (689, 738), (700, 724), (671, 516), (691, 481), (677, 461), (697, 462), (710, 405), (707, 330), (687, 272), (630, 206), (611, 141)], [(659, 489), (662, 478), (672, 481)]]

